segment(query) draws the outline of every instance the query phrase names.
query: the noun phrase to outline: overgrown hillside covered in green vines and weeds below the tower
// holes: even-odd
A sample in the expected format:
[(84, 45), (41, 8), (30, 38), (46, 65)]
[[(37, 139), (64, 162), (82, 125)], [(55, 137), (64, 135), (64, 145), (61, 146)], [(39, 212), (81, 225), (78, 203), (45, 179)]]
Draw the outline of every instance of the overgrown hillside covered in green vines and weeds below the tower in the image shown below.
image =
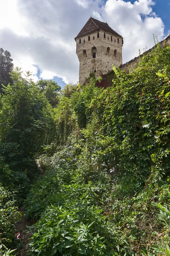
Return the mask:
[(44, 108), (30, 256), (170, 255), (170, 47), (114, 71), (106, 90), (91, 79)]

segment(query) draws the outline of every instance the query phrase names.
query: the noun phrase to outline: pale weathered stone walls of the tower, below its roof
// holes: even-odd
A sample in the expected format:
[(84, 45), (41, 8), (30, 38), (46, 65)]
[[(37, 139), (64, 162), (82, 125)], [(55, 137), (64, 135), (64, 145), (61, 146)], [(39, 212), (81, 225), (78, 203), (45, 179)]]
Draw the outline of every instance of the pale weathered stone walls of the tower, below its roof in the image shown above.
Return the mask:
[[(90, 36), (90, 41), (88, 41), (88, 36)], [(79, 42), (80, 39), (81, 43)], [(102, 74), (108, 73), (112, 69), (112, 64), (118, 67), (122, 64), (121, 37), (99, 31), (99, 38), (97, 38), (97, 32), (95, 32), (82, 38), (77, 38), (76, 44), (76, 53), (79, 58), (80, 84), (83, 84), (94, 70), (96, 70), (95, 76), (98, 78)], [(93, 47), (96, 47), (96, 49), (93, 49)], [(96, 58), (93, 58), (93, 52), (96, 52)]]

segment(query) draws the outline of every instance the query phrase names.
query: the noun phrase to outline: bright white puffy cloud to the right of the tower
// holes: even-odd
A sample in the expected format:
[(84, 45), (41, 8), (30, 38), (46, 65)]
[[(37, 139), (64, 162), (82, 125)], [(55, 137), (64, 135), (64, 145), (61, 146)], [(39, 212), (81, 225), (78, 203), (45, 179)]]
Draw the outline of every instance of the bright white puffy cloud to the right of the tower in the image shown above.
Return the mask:
[(102, 7), (102, 18), (124, 38), (123, 62), (139, 54), (139, 49), (153, 47), (153, 34), (162, 40), (164, 23), (152, 12), (153, 0), (138, 0), (133, 4), (123, 0), (108, 0)]

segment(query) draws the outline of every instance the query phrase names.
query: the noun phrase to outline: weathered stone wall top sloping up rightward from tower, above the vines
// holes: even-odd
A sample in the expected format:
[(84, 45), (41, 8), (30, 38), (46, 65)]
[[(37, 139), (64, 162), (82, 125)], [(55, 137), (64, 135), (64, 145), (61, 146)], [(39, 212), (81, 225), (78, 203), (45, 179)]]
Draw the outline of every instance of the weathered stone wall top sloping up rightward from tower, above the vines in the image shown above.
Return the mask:
[[(160, 43), (160, 47), (166, 47), (166, 46), (170, 46), (170, 35), (168, 35), (167, 38), (165, 38), (163, 41), (161, 41)], [(154, 46), (155, 47), (155, 46)], [(133, 58), (131, 61), (128, 61), (127, 63), (120, 65), (120, 68), (122, 70), (125, 70), (127, 73), (129, 73), (130, 71), (132, 71), (133, 69), (135, 69), (140, 61), (140, 59), (146, 55), (148, 52), (151, 52), (152, 49), (154, 49), (154, 47), (152, 47), (151, 49), (149, 49), (148, 51), (144, 52), (143, 54), (141, 54), (140, 56)]]

